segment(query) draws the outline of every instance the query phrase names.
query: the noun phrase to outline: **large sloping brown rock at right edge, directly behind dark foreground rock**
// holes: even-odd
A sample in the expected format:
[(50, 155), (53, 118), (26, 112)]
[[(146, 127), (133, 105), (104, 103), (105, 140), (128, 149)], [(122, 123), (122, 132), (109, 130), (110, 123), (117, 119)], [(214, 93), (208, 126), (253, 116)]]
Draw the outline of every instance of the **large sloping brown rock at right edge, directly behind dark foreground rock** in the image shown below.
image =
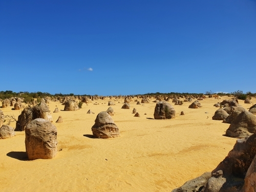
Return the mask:
[(226, 136), (244, 138), (256, 131), (256, 116), (248, 111), (241, 112), (229, 125)]

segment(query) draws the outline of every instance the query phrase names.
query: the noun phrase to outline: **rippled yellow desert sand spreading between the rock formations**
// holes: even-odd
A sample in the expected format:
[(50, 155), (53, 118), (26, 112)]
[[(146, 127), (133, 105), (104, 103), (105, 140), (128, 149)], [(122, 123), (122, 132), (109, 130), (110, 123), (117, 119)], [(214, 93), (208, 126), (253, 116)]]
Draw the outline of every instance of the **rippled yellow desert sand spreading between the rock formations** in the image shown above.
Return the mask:
[[(64, 105), (51, 102), (57, 156), (26, 160), (25, 132), (0, 140), (0, 191), (171, 191), (211, 172), (233, 148), (237, 139), (223, 136), (229, 124), (211, 119), (218, 109), (214, 103), (229, 98), (206, 98), (200, 101), (201, 109), (188, 109), (191, 102), (169, 102), (176, 110), (176, 118), (170, 120), (153, 119), (154, 99), (144, 105), (131, 102), (130, 110), (121, 109), (123, 100), (112, 100), (112, 118), (121, 136), (111, 139), (91, 138), (94, 120), (109, 108), (109, 99), (59, 113), (53, 113), (56, 105), (60, 110)], [(252, 105), (239, 103), (245, 109)], [(20, 111), (11, 108), (1, 110), (17, 117)], [(140, 117), (134, 117), (133, 108)], [(87, 114), (89, 109), (95, 114)], [(64, 122), (55, 123), (60, 115)]]

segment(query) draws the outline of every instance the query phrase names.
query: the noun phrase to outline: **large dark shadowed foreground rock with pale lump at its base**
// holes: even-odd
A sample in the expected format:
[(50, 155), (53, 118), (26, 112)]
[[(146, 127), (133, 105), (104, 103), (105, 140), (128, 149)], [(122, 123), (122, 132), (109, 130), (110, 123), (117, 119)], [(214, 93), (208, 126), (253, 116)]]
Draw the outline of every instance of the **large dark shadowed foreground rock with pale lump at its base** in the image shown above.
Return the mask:
[[(206, 183), (202, 191), (241, 191), (242, 185), (247, 185), (244, 179), (246, 178), (248, 170), (248, 175), (252, 173), (249, 167), (255, 155), (256, 134), (238, 139), (227, 157), (212, 170), (212, 177), (209, 179), (208, 183)], [(215, 190), (212, 190), (212, 188)], [(247, 190), (247, 192), (248, 191), (250, 190)]]

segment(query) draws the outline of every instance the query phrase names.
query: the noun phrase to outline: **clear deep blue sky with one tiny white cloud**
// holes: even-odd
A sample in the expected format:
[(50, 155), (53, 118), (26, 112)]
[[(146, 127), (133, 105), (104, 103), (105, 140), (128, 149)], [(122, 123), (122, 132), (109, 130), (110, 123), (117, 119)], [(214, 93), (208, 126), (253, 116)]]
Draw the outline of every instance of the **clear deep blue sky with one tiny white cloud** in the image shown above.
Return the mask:
[(0, 91), (256, 92), (256, 1), (0, 0)]

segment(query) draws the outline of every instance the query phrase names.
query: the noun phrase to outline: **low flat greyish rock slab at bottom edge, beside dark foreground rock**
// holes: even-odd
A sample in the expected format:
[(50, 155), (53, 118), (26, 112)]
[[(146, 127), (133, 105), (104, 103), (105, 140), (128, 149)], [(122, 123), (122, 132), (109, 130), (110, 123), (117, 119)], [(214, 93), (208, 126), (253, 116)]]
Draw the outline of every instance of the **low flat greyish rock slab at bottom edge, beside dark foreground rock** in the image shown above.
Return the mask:
[(172, 190), (172, 192), (192, 192), (192, 191), (201, 191), (203, 186), (207, 183), (209, 178), (211, 177), (210, 172), (206, 172), (203, 175), (191, 179), (185, 182), (181, 187)]

